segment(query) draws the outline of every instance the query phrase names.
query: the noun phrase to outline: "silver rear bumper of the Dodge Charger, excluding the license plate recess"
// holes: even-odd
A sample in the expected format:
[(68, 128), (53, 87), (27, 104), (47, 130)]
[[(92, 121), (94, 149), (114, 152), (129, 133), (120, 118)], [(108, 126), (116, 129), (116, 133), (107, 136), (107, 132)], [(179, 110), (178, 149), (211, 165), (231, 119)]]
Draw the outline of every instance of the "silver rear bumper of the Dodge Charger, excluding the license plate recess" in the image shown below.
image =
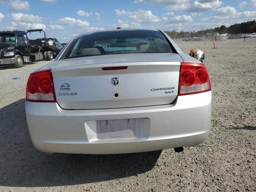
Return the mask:
[[(118, 154), (194, 146), (206, 140), (211, 125), (211, 92), (178, 96), (170, 105), (63, 110), (57, 103), (26, 102), (34, 146), (48, 153)], [(149, 118), (140, 138), (99, 139), (86, 122)]]

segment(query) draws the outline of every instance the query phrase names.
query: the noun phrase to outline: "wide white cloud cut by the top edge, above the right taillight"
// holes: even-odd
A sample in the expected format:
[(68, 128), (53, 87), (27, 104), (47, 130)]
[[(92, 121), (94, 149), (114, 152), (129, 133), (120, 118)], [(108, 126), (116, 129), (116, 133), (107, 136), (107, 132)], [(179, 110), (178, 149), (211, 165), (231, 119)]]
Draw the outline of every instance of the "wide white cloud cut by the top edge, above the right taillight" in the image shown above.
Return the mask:
[(199, 12), (206, 10), (213, 10), (222, 5), (220, 0), (194, 0), (185, 4), (168, 5), (168, 10), (179, 10), (188, 12)]

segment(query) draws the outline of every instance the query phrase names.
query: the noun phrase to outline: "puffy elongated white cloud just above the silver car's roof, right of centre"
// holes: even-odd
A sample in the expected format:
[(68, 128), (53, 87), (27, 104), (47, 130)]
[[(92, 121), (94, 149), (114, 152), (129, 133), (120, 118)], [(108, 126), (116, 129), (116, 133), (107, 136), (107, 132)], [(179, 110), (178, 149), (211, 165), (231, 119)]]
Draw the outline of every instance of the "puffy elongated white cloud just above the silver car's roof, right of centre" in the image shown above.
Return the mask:
[(137, 10), (135, 12), (131, 12), (125, 10), (120, 11), (119, 9), (116, 9), (115, 12), (117, 15), (127, 15), (129, 18), (132, 18), (139, 23), (151, 23), (161, 21), (158, 16), (153, 15), (150, 10)]

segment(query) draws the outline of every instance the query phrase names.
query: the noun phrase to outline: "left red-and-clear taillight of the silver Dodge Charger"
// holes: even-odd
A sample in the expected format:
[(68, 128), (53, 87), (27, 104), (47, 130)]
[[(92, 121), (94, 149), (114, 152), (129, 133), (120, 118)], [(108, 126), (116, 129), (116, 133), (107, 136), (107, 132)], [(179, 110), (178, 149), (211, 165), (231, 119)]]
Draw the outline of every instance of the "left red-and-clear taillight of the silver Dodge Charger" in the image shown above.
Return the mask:
[(27, 82), (26, 101), (56, 102), (50, 69), (30, 74)]

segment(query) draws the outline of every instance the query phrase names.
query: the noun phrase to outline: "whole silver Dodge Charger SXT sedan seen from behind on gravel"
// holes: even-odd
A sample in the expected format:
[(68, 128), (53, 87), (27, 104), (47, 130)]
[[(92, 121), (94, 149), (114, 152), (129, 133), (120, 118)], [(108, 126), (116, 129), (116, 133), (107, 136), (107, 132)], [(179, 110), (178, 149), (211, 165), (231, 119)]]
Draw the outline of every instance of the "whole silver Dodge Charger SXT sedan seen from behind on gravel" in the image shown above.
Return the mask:
[(32, 143), (48, 153), (195, 146), (210, 131), (210, 80), (160, 30), (98, 31), (30, 74), (26, 116)]

